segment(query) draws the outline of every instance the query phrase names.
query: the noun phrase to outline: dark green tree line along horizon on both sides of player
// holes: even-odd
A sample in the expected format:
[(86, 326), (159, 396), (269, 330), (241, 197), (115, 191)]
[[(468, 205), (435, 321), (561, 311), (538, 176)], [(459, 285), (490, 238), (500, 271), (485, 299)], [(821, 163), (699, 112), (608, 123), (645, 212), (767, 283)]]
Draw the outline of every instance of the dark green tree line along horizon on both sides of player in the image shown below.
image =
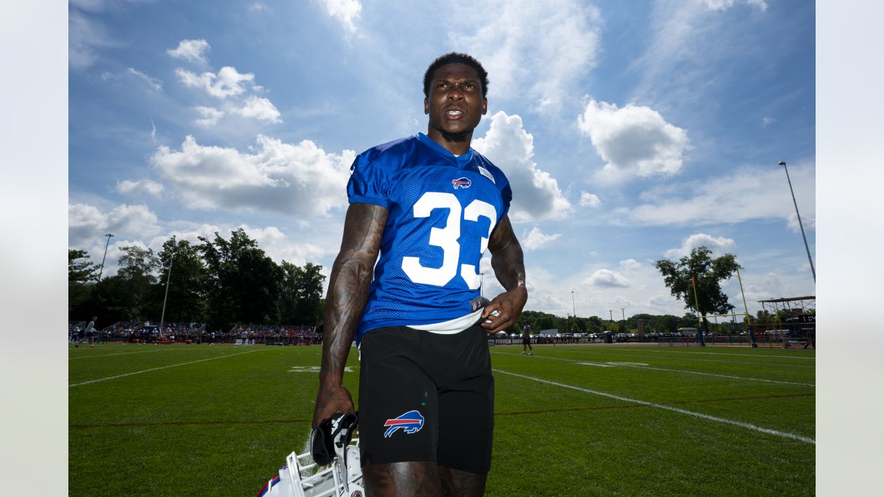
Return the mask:
[[(169, 279), (166, 322), (201, 322), (212, 330), (237, 324), (321, 325), (323, 320), (323, 266), (303, 267), (275, 263), (241, 228), (225, 239), (199, 237), (191, 245), (172, 238), (155, 253), (151, 248), (122, 247), (117, 274), (98, 280), (99, 266), (84, 250), (68, 250), (68, 318), (99, 316), (103, 325), (117, 321), (159, 322), (163, 312), (166, 279)], [(729, 318), (710, 323), (707, 314), (726, 314), (734, 309), (720, 283), (742, 269), (735, 256), (711, 257), (705, 247), (694, 248), (678, 261), (660, 259), (656, 267), (667, 287), (684, 302), (688, 312), (672, 315), (635, 314), (623, 319), (560, 317), (525, 310), (511, 332), (522, 333), (530, 325), (534, 333), (554, 329), (559, 333), (633, 333), (644, 320), (645, 333), (674, 333), (697, 326), (697, 311), (708, 333), (735, 332)], [(171, 264), (171, 273), (169, 272)], [(696, 294), (694, 288), (697, 288)], [(698, 304), (698, 306), (697, 306)], [(784, 322), (784, 310), (772, 315), (759, 310), (756, 323)]]

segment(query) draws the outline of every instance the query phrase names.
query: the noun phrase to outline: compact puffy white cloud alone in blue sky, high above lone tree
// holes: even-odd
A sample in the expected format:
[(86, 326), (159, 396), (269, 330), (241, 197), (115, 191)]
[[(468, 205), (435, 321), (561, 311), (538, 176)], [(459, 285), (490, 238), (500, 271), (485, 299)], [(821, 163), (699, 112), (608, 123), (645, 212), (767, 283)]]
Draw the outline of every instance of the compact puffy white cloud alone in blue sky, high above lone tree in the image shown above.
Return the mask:
[(599, 180), (674, 174), (682, 169), (688, 134), (650, 107), (628, 103), (618, 109), (615, 103), (590, 100), (577, 126), (607, 163)]

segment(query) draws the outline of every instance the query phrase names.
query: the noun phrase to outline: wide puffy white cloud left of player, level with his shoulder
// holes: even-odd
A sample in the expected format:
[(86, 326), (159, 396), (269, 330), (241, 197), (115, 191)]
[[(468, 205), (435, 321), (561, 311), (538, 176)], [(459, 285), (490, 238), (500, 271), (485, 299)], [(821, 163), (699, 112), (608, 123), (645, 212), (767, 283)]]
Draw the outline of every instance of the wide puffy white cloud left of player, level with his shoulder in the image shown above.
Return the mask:
[(187, 136), (180, 150), (157, 149), (150, 161), (181, 201), (195, 209), (271, 210), (303, 218), (347, 205), (353, 150), (326, 153), (264, 135), (254, 154), (202, 146)]

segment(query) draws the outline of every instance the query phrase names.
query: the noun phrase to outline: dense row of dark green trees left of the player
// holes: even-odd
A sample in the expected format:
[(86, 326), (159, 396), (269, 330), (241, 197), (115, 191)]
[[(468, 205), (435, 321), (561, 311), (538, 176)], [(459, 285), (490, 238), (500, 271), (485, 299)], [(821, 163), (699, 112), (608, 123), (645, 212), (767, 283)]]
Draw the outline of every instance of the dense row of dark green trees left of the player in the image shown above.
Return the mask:
[[(117, 274), (98, 280), (100, 266), (85, 250), (68, 250), (68, 319), (237, 324), (317, 325), (324, 304), (323, 266), (277, 264), (241, 228), (227, 239), (199, 243), (171, 238), (163, 248), (120, 248)], [(171, 272), (169, 266), (171, 264)]]

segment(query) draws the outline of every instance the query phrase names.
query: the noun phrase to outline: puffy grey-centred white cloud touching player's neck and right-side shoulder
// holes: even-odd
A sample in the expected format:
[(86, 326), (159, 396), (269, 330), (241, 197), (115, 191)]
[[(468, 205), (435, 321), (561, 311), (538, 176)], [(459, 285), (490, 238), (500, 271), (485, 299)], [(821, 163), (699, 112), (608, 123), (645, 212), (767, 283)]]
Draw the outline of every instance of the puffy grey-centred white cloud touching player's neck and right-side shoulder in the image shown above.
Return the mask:
[(513, 189), (509, 218), (514, 222), (565, 218), (574, 208), (562, 195), (559, 182), (537, 168), (534, 137), (522, 128), (522, 118), (499, 111), (488, 133), (473, 140), (473, 148), (497, 164)]

